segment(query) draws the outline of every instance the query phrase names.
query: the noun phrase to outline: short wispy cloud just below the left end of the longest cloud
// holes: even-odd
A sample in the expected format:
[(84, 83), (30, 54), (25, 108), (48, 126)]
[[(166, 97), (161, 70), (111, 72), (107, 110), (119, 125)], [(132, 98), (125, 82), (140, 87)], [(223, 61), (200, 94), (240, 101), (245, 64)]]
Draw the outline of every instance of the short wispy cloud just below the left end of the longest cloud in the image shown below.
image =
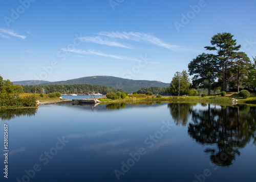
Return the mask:
[(123, 44), (115, 42), (115, 41), (107, 40), (107, 39), (101, 38), (99, 36), (96, 36), (96, 37), (80, 37), (79, 39), (83, 42), (92, 42), (92, 43), (115, 46), (115, 47), (130, 48), (129, 46), (123, 45)]

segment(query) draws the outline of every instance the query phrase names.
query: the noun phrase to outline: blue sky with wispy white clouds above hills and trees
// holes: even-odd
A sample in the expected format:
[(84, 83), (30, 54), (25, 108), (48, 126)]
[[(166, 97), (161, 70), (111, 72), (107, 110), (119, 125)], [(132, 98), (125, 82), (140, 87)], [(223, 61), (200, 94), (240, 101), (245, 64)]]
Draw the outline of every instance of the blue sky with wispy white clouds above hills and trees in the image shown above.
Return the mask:
[(4, 80), (109, 75), (170, 83), (222, 32), (256, 56), (253, 0), (5, 0), (0, 6)]

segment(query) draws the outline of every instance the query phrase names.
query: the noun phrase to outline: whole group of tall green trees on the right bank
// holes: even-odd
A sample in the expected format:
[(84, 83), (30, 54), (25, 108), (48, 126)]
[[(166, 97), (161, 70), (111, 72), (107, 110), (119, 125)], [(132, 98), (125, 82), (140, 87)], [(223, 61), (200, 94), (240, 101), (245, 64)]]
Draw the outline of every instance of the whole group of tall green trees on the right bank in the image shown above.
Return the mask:
[(250, 60), (248, 56), (239, 51), (241, 45), (233, 39), (230, 33), (214, 35), (210, 41), (212, 46), (205, 46), (207, 51), (215, 54), (202, 53), (188, 64), (189, 75), (193, 75), (190, 83), (188, 73), (183, 70), (176, 72), (170, 86), (172, 95), (189, 94), (191, 89), (207, 89), (227, 91), (227, 86), (237, 87), (237, 92), (243, 84), (250, 86), (249, 91), (256, 88), (256, 57)]

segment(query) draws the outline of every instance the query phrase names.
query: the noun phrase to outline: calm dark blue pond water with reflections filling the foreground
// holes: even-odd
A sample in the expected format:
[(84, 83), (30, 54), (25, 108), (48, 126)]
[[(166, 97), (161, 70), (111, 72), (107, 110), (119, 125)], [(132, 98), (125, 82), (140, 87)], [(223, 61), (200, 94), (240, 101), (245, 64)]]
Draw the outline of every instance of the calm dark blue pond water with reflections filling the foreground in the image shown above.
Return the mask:
[[(256, 108), (45, 105), (1, 112), (1, 181), (255, 181)], [(119, 179), (119, 180), (118, 180)]]

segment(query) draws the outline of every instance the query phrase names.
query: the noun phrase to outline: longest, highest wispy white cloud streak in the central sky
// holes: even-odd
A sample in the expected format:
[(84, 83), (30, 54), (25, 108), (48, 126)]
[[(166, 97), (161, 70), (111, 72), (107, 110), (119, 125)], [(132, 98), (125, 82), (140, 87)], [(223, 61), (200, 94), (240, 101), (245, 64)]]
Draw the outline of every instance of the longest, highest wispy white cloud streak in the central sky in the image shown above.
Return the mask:
[(98, 35), (106, 36), (112, 39), (150, 42), (151, 44), (155, 44), (172, 50), (177, 50), (180, 47), (178, 45), (171, 45), (165, 43), (161, 39), (153, 36), (152, 34), (146, 34), (141, 32), (100, 32), (98, 33)]

